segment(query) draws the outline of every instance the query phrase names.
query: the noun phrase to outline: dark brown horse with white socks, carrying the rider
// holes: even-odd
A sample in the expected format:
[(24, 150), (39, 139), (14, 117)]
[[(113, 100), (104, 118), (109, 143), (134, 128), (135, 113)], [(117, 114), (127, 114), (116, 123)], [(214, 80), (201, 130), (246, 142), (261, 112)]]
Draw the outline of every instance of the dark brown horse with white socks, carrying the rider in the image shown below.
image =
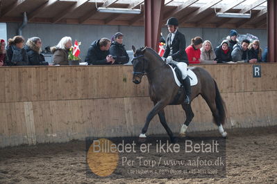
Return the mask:
[[(217, 83), (208, 71), (198, 66), (190, 68), (196, 74), (198, 83), (192, 86), (190, 104), (185, 104), (185, 94), (176, 84), (174, 73), (170, 66), (166, 64), (165, 60), (155, 50), (149, 47), (142, 47), (136, 50), (135, 46), (132, 46), (132, 50), (134, 52), (134, 57), (131, 61), (133, 64), (133, 82), (140, 84), (142, 77), (144, 75), (147, 76), (149, 81), (149, 95), (154, 105), (146, 117), (145, 125), (142, 128), (139, 138), (146, 138), (145, 134), (149, 123), (158, 113), (160, 123), (167, 131), (170, 140), (173, 142), (176, 141), (177, 138), (174, 137), (165, 119), (164, 109), (169, 104), (181, 104), (185, 111), (186, 120), (180, 131), (180, 136), (185, 136), (185, 131), (192, 121), (192, 118), (194, 118), (191, 103), (198, 95), (201, 95), (205, 102), (207, 102), (208, 107), (210, 107), (213, 120), (215, 125), (218, 126), (221, 136), (224, 138), (227, 136), (226, 131), (222, 127), (226, 121), (226, 106), (219, 93)], [(179, 90), (181, 91), (181, 95), (178, 95), (180, 93)]]

